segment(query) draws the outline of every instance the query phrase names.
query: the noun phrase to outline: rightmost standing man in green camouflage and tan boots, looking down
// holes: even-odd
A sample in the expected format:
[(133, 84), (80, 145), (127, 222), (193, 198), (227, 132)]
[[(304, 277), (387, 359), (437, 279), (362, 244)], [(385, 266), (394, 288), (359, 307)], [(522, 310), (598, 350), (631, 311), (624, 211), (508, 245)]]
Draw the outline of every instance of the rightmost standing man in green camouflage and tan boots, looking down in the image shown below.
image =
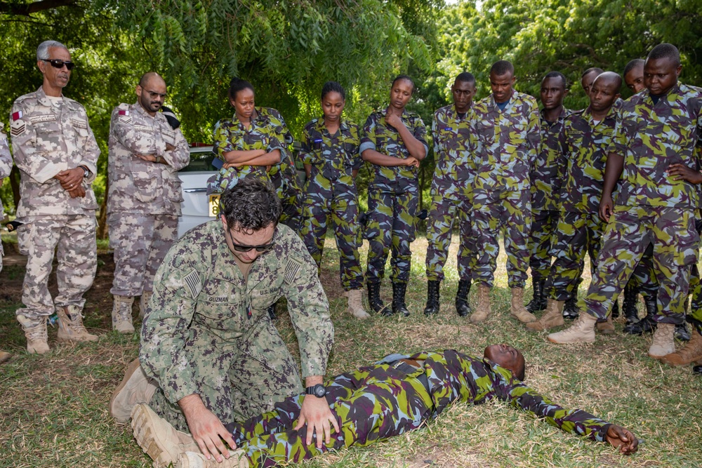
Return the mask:
[[(694, 226), (698, 192), (670, 173), (670, 166), (697, 167), (695, 145), (702, 130), (702, 91), (678, 83), (681, 69), (675, 46), (656, 46), (644, 65), (647, 91), (623, 102), (600, 202), (602, 218), (614, 215), (614, 219), (604, 233), (597, 272), (584, 300), (588, 313), (567, 330), (549, 335), (552, 342), (595, 341), (596, 319), (607, 318), (651, 243), (659, 288), (649, 356), (660, 359), (675, 352), (675, 323), (684, 319), (689, 271), (698, 257)], [(615, 208), (611, 194), (622, 174)]]

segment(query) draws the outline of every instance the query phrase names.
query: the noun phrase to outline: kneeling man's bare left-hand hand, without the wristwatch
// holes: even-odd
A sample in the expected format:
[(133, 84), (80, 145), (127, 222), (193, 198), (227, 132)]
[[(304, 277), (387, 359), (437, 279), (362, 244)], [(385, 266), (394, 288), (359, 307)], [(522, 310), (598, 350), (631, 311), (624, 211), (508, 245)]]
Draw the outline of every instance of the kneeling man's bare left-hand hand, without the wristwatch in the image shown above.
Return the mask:
[(219, 418), (205, 407), (200, 396), (197, 394), (185, 396), (178, 401), (178, 404), (183, 409), (190, 434), (207, 460), (212, 456), (221, 463), (223, 456), (229, 458), (229, 451), (222, 441), (224, 440), (232, 449), (237, 448), (237, 444)]

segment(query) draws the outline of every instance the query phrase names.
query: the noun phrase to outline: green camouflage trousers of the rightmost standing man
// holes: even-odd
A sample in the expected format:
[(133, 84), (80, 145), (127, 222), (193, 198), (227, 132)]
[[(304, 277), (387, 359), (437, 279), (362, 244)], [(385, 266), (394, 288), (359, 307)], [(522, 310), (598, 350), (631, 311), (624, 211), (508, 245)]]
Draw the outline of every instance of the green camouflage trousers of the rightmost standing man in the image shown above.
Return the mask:
[(597, 271), (583, 300), (588, 314), (606, 319), (649, 244), (658, 280), (656, 321), (682, 323), (691, 266), (699, 236), (693, 210), (616, 206), (602, 238)]

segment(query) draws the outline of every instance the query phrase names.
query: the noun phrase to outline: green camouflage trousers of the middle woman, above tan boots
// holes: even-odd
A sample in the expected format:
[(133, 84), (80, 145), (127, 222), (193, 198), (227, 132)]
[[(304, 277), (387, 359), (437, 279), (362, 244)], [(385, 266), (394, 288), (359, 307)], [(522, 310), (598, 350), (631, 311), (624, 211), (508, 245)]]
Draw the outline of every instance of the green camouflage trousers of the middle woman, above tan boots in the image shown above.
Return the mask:
[(322, 265), (326, 229), (332, 225), (339, 251), (339, 276), (344, 290), (363, 288), (363, 271), (358, 253), (358, 204), (347, 197), (324, 199), (308, 194), (303, 206), (302, 238), (317, 268)]

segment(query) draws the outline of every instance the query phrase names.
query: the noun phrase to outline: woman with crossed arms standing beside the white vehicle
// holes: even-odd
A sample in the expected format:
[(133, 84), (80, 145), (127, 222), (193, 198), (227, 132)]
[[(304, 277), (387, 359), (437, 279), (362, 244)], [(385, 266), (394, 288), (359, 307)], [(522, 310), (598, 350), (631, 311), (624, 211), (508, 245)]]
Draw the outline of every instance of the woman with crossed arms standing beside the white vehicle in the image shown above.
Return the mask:
[(215, 125), (214, 151), (224, 165), (218, 175), (208, 180), (209, 192), (224, 192), (245, 177), (270, 181), (267, 166), (281, 161), (284, 150), (281, 127), (272, 122), (265, 109), (254, 107), (254, 98), (249, 81), (232, 79), (229, 102), (234, 107), (234, 116)]

